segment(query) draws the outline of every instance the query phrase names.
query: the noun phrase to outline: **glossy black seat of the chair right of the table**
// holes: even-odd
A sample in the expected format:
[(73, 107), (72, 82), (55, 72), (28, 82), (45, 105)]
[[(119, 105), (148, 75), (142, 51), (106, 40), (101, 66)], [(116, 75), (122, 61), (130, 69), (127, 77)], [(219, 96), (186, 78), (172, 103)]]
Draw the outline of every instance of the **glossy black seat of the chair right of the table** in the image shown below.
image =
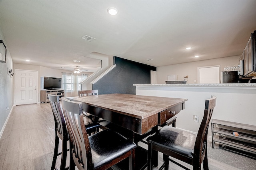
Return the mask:
[(196, 135), (172, 126), (164, 126), (156, 134), (148, 137), (147, 141), (182, 156), (193, 158)]

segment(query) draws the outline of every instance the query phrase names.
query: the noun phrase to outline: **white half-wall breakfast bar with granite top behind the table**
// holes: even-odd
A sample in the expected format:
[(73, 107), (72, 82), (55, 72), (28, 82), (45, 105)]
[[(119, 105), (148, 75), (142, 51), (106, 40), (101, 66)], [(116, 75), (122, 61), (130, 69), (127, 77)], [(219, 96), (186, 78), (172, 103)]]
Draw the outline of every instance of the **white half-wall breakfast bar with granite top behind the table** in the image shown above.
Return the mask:
[[(211, 95), (217, 97), (212, 118), (256, 126), (256, 83), (134, 84), (134, 86), (137, 95), (188, 99), (186, 109), (177, 115), (177, 128), (197, 133), (204, 114), (205, 100)], [(194, 122), (193, 115), (199, 117), (199, 123)], [(211, 139), (211, 132), (208, 132), (208, 138)]]

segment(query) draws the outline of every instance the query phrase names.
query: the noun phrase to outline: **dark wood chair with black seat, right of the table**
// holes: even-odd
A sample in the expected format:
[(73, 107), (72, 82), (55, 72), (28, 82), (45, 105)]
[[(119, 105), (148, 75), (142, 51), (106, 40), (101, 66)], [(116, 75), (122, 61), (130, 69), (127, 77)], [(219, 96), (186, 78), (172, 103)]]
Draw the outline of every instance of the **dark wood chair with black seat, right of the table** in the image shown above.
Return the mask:
[(216, 96), (205, 100), (205, 109), (198, 134), (180, 130), (171, 126), (164, 126), (156, 134), (148, 137), (148, 170), (153, 169), (152, 152), (162, 152), (164, 164), (159, 170), (168, 170), (169, 161), (189, 170), (187, 167), (170, 159), (169, 156), (193, 166), (193, 170), (200, 170), (203, 163), (204, 170), (208, 170), (207, 134), (212, 112), (216, 106)]

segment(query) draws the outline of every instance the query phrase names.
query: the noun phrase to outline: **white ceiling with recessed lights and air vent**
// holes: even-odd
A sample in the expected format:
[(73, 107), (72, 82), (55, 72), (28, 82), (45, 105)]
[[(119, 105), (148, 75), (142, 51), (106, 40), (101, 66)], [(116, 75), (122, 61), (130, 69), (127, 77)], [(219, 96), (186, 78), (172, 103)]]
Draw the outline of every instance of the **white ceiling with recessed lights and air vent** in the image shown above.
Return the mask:
[[(64, 70), (94, 72), (100, 61), (88, 56), (97, 54), (151, 66), (237, 56), (256, 30), (256, 0), (2, 0), (0, 6), (13, 62)], [(118, 14), (108, 14), (109, 7)]]

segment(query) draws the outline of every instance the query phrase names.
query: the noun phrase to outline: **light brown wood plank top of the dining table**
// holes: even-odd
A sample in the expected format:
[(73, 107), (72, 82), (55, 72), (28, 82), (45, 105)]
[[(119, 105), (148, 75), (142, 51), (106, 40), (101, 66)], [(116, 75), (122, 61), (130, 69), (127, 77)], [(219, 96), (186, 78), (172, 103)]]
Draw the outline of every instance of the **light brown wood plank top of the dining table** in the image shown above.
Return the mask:
[(148, 116), (187, 101), (187, 99), (181, 98), (140, 96), (134, 94), (100, 94), (68, 98), (90, 106), (96, 106), (140, 119), (147, 118)]

